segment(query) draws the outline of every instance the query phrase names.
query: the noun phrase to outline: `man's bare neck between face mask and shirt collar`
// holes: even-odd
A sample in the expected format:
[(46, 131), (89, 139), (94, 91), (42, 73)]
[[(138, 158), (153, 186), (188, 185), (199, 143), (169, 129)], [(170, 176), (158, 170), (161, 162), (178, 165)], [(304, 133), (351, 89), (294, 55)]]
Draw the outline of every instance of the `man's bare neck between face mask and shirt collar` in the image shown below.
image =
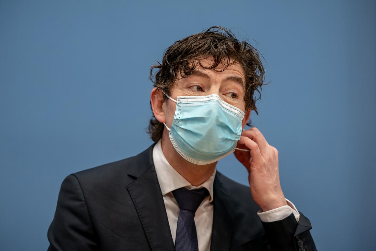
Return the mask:
[(217, 162), (206, 165), (197, 165), (185, 160), (185, 158), (176, 152), (171, 144), (166, 128), (162, 135), (161, 144), (162, 152), (168, 163), (170, 163), (170, 165), (193, 186), (201, 185), (213, 174)]

